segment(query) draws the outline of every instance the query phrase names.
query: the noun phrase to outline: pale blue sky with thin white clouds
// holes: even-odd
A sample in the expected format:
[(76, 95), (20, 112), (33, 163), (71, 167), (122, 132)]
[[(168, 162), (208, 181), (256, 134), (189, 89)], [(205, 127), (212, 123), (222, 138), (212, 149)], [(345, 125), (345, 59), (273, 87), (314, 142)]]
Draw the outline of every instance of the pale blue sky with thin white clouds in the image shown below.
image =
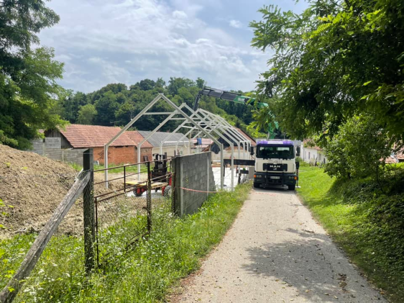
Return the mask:
[(52, 0), (60, 16), (41, 44), (65, 63), (60, 84), (92, 92), (108, 83), (162, 77), (203, 78), (218, 89), (248, 91), (270, 53), (250, 46), (248, 23), (275, 4), (301, 12), (294, 0)]

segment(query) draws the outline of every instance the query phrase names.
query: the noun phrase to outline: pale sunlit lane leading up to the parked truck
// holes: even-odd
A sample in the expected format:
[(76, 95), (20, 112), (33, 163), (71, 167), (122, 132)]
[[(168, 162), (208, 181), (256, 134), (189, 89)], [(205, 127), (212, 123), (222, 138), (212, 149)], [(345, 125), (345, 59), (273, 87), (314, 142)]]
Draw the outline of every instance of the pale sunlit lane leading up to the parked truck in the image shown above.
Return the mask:
[(386, 302), (286, 190), (252, 190), (179, 302)]

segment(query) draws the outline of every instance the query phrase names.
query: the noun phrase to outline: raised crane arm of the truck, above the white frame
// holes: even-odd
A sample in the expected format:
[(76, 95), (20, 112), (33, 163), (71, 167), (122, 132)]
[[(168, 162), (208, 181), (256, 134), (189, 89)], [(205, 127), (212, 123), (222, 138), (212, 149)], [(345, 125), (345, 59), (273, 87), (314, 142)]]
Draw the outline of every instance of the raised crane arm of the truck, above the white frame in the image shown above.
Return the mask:
[[(228, 100), (228, 101), (231, 101), (234, 103), (239, 103), (239, 104), (253, 105), (257, 108), (262, 108), (262, 107), (268, 106), (267, 103), (256, 102), (255, 98), (242, 96), (241, 94), (237, 94), (237, 93), (233, 93), (233, 92), (227, 92), (227, 91), (222, 91), (222, 90), (205, 87), (203, 90), (200, 90), (198, 92), (198, 94), (196, 95), (195, 103), (193, 104), (194, 111), (196, 111), (198, 109), (199, 100), (202, 96), (220, 98), (223, 100)], [(278, 129), (278, 122), (275, 122), (275, 129), (271, 126), (269, 129), (267, 129), (268, 139), (275, 138), (275, 135), (276, 135), (275, 131), (277, 129)]]

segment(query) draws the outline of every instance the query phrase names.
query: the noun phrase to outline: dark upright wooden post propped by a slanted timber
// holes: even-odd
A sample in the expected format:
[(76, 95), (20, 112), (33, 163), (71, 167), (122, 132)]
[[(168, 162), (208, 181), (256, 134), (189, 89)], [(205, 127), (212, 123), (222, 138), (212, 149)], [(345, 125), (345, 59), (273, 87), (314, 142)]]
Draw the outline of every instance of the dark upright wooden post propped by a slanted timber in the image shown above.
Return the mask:
[(83, 216), (85, 269), (86, 272), (91, 272), (95, 267), (94, 155), (92, 148), (83, 153), (83, 170), (90, 173), (90, 180), (84, 188), (83, 194)]

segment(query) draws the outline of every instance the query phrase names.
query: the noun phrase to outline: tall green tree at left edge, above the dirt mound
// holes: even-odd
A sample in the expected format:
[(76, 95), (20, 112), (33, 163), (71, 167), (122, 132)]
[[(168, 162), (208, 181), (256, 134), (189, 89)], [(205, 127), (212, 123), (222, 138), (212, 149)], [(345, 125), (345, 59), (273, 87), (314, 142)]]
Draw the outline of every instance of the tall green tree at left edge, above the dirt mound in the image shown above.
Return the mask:
[(64, 121), (54, 113), (63, 89), (56, 84), (63, 64), (53, 60), (51, 48), (31, 50), (36, 36), (59, 17), (41, 0), (8, 0), (0, 5), (0, 143), (21, 149), (39, 128), (55, 128)]

